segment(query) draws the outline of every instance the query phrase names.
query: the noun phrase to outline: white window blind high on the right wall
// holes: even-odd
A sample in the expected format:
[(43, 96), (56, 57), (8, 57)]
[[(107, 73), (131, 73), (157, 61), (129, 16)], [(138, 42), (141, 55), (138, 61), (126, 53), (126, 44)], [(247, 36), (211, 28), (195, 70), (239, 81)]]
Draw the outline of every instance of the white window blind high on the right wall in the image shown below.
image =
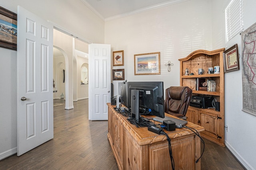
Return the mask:
[(226, 36), (227, 41), (244, 29), (243, 0), (232, 0), (226, 10)]

